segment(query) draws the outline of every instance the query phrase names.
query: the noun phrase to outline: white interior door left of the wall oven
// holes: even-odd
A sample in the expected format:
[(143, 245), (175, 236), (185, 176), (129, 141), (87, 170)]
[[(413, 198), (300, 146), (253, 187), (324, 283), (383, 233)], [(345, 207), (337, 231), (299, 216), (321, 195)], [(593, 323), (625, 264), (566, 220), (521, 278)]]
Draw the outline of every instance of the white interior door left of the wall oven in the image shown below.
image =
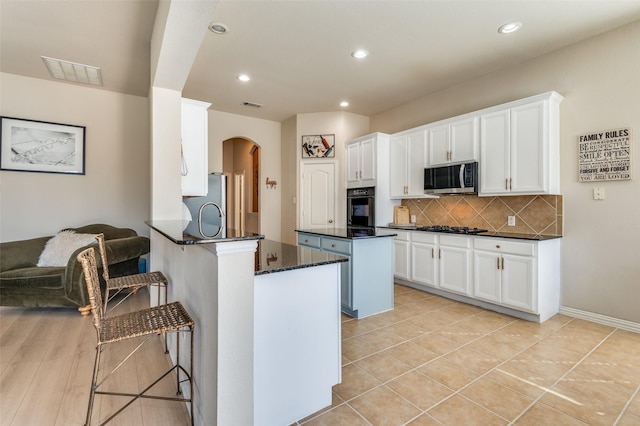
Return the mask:
[(335, 227), (335, 163), (302, 165), (302, 229)]

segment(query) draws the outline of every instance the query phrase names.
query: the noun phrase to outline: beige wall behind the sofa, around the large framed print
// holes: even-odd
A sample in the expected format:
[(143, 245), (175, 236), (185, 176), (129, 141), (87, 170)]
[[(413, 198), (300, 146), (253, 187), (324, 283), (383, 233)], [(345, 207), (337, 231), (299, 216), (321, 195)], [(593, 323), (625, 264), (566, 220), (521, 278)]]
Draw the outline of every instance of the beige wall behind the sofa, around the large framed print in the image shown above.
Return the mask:
[(3, 116), (86, 126), (86, 175), (0, 172), (0, 241), (108, 223), (149, 235), (147, 98), (0, 73)]

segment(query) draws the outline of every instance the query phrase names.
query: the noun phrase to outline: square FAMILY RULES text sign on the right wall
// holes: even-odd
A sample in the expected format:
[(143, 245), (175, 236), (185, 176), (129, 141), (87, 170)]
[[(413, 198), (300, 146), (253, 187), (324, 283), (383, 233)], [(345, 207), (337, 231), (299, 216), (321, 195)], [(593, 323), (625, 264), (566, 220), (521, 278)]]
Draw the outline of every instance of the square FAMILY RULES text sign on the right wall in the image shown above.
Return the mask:
[(603, 130), (578, 136), (580, 182), (631, 179), (631, 129)]

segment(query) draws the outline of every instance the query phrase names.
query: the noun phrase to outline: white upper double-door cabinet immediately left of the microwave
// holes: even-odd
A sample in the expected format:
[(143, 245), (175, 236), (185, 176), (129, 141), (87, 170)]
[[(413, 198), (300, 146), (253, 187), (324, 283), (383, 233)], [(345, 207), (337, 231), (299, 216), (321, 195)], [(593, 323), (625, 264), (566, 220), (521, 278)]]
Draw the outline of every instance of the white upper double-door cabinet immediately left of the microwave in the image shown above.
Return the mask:
[(391, 198), (424, 197), (424, 168), (427, 153), (427, 130), (419, 127), (391, 136)]

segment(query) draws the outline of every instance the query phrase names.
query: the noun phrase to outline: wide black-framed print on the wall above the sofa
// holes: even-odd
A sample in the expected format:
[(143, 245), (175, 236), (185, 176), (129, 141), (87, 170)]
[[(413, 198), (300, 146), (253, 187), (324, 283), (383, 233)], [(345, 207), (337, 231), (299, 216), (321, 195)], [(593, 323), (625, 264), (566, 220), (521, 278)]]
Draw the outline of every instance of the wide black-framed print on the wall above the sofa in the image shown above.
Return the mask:
[(0, 117), (0, 170), (84, 175), (84, 126)]

